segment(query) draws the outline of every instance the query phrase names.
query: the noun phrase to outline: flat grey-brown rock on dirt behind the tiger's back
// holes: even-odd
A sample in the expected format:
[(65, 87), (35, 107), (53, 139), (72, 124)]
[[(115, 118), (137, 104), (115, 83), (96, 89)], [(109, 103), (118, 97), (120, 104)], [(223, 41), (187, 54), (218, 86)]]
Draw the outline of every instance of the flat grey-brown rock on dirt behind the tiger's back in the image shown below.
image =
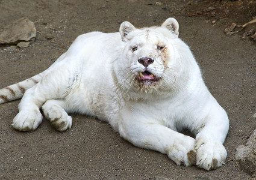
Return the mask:
[(22, 17), (0, 30), (0, 44), (17, 44), (19, 41), (29, 41), (36, 37), (33, 22)]

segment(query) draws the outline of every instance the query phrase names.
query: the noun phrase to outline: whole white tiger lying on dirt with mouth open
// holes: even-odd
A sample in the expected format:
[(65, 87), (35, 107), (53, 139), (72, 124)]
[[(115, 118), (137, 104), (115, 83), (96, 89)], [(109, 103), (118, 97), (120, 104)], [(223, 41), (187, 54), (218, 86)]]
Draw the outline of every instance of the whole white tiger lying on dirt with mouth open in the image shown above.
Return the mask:
[(12, 124), (19, 131), (36, 130), (40, 108), (58, 131), (71, 128), (67, 113), (82, 113), (178, 165), (216, 169), (226, 159), (228, 116), (178, 29), (169, 18), (160, 27), (136, 29), (123, 22), (120, 33), (80, 35), (43, 73), (1, 89), (0, 103), (25, 92)]

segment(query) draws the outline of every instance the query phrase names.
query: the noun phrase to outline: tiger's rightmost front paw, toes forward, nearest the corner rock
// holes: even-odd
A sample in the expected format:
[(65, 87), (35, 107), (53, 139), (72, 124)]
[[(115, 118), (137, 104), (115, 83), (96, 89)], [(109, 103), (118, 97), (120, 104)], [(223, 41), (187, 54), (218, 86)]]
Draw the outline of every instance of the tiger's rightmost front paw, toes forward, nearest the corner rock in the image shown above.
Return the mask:
[(210, 170), (225, 164), (227, 154), (221, 142), (211, 142), (199, 137), (195, 141), (195, 149), (196, 166)]

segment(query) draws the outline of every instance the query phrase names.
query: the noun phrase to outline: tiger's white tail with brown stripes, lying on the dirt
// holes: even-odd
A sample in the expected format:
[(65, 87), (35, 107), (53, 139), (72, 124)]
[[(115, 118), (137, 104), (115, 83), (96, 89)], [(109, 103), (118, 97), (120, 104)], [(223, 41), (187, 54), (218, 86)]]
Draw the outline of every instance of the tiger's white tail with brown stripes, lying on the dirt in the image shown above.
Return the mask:
[(23, 80), (22, 82), (0, 89), (0, 104), (21, 98), (27, 89), (33, 87), (42, 79), (43, 74), (44, 72)]

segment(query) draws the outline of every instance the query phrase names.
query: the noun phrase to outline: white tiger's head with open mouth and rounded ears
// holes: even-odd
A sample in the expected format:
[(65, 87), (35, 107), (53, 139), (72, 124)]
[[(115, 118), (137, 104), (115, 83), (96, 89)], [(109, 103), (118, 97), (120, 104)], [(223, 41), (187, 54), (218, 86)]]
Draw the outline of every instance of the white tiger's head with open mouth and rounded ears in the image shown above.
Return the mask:
[(123, 90), (140, 94), (180, 90), (186, 83), (192, 56), (178, 38), (178, 22), (167, 19), (161, 26), (135, 28), (120, 25), (122, 49), (117, 59), (116, 77)]

